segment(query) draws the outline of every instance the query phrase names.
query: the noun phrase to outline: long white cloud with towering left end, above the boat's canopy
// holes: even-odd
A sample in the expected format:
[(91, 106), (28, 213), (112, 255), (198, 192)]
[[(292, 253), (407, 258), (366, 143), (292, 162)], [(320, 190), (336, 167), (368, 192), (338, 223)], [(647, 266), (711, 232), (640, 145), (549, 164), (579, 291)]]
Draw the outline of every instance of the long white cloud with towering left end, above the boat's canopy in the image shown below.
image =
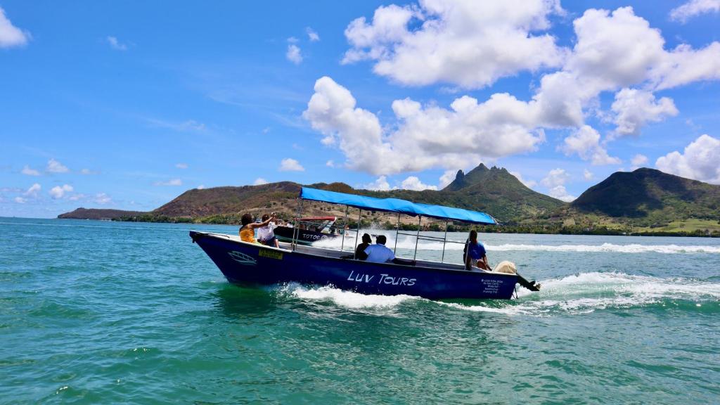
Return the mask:
[(397, 125), (390, 132), (372, 112), (356, 107), (348, 89), (325, 76), (315, 82), (303, 117), (325, 135), (323, 144), (345, 153), (348, 167), (372, 174), (469, 166), (534, 151), (544, 141), (528, 105), (509, 94), (495, 94), (482, 104), (464, 96), (450, 107), (395, 100)]

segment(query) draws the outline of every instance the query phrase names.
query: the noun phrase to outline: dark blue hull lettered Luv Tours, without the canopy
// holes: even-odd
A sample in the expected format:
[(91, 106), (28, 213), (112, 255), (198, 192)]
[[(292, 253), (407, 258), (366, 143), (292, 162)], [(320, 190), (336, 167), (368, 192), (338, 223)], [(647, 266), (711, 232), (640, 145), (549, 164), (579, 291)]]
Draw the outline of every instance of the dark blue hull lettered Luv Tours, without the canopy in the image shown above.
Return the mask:
[(517, 275), (324, 257), (196, 231), (191, 231), (190, 236), (229, 282), (240, 285), (298, 282), (303, 285), (332, 285), (363, 294), (405, 294), (438, 300), (509, 299), (518, 282)]

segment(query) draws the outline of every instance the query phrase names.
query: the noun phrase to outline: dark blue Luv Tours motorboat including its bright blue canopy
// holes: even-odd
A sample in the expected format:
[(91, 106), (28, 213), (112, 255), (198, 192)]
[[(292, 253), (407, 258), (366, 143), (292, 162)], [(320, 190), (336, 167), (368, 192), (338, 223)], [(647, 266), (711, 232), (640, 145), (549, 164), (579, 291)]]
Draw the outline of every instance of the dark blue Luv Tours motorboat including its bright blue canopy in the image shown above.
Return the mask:
[[(342, 204), (360, 210), (397, 213), (398, 218), (403, 214), (413, 215), (418, 217), (418, 224), (423, 217), (465, 223), (496, 224), (495, 219), (490, 215), (460, 208), (418, 204), (395, 198), (379, 199), (307, 187), (303, 187), (300, 191), (299, 210), (302, 209), (303, 200)], [(297, 223), (294, 227), (298, 228)], [(396, 233), (403, 234), (400, 231)], [(438, 239), (420, 235), (420, 231), (410, 234), (418, 240)], [(445, 263), (442, 260), (441, 262), (416, 260), (415, 265), (373, 263), (354, 259), (352, 254), (348, 255), (348, 252), (342, 250), (303, 246), (293, 242), (282, 242), (277, 249), (247, 243), (241, 241), (239, 236), (221, 233), (190, 231), (190, 236), (192, 241), (215, 262), (228, 281), (239, 285), (297, 282), (303, 285), (332, 285), (335, 288), (363, 294), (405, 294), (432, 300), (510, 299), (516, 292), (518, 283), (530, 290), (539, 290), (539, 285), (528, 282), (518, 274), (487, 272), (477, 268), (465, 270), (462, 264)], [(445, 243), (446, 238), (443, 240)]]

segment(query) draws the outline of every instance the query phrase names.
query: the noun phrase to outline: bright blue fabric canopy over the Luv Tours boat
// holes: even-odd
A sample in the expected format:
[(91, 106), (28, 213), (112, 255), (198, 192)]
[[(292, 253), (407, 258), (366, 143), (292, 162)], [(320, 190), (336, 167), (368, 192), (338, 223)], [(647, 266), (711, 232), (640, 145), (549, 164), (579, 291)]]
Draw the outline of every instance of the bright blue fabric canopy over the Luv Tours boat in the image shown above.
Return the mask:
[(444, 207), (443, 205), (429, 205), (413, 203), (399, 198), (375, 198), (365, 195), (345, 194), (327, 190), (302, 187), (300, 198), (303, 200), (322, 201), (323, 203), (348, 205), (361, 210), (385, 211), (390, 213), (401, 213), (405, 215), (438, 219), (448, 219), (467, 223), (482, 223), (495, 225), (495, 218), (486, 213), (463, 210), (462, 208)]

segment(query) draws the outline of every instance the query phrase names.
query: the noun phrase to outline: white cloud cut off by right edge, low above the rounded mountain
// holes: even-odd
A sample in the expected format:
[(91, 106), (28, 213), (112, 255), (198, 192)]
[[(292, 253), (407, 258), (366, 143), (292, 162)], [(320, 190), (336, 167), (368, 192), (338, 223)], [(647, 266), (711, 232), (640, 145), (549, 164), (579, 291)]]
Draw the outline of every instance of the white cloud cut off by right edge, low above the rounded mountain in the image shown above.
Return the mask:
[(663, 172), (681, 177), (720, 184), (719, 162), (720, 139), (701, 135), (685, 147), (684, 153), (667, 153), (655, 161), (655, 166)]

